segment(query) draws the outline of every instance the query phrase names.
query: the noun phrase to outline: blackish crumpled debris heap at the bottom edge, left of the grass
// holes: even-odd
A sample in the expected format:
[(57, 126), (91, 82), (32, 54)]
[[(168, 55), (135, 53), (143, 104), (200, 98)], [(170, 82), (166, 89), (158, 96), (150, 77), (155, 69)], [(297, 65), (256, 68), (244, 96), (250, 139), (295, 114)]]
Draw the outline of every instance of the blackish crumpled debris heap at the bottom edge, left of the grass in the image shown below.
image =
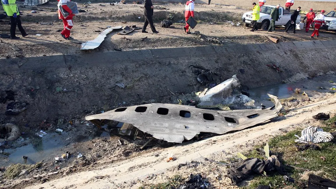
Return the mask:
[(180, 189), (212, 189), (212, 185), (207, 179), (203, 179), (202, 175), (190, 174), (188, 181), (180, 186)]

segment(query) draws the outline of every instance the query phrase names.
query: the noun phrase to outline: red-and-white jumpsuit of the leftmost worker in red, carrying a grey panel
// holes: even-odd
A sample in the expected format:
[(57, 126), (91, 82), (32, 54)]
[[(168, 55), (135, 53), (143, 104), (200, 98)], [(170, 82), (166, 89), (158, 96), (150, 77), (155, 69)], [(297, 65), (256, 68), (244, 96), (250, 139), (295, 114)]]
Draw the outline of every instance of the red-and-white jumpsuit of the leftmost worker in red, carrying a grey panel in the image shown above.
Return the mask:
[(74, 26), (72, 22), (72, 17), (74, 16), (74, 14), (72, 14), (71, 9), (67, 5), (67, 2), (70, 0), (57, 0), (57, 1), (58, 1), (58, 5), (61, 5), (65, 11), (69, 12), (69, 15), (67, 17), (64, 17), (63, 14), (61, 13), (61, 10), (59, 10), (59, 7), (58, 7), (58, 18), (62, 19), (63, 25), (64, 25), (64, 30), (62, 30), (61, 34), (64, 35), (65, 38), (69, 38), (70, 30)]

